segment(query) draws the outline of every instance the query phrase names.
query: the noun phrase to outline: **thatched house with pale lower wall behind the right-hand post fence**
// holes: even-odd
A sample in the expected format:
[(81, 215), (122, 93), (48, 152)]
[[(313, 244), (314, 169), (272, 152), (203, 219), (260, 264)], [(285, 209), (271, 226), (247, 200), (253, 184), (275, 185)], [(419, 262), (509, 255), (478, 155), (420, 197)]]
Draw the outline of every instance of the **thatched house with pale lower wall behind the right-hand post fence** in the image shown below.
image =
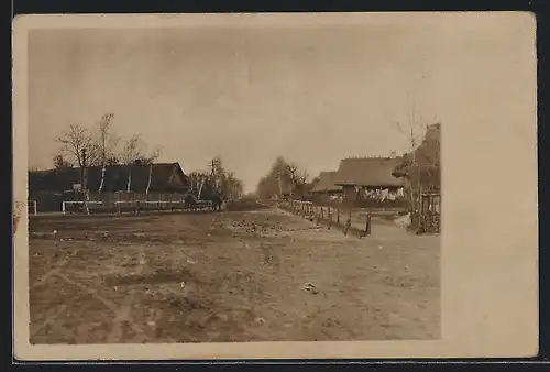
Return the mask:
[(404, 180), (393, 175), (400, 157), (350, 157), (340, 162), (333, 183), (342, 187), (343, 200), (397, 200), (404, 197)]

